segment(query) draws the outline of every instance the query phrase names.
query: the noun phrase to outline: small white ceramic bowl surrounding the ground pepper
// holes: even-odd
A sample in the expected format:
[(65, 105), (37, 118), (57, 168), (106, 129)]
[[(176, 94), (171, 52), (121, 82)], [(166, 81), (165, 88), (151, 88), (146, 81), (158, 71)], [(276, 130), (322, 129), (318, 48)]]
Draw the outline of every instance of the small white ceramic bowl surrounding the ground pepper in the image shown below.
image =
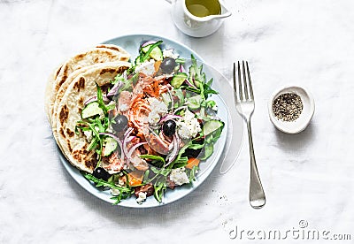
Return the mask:
[[(273, 113), (273, 102), (281, 94), (284, 93), (294, 93), (301, 97), (303, 101), (303, 111), (301, 112), (299, 118), (294, 121), (283, 121), (276, 118)], [(299, 133), (302, 132), (306, 126), (309, 125), (313, 113), (315, 111), (315, 103), (312, 94), (305, 88), (299, 88), (294, 86), (287, 86), (276, 90), (268, 102), (268, 113), (269, 118), (273, 122), (273, 125), (284, 133)]]

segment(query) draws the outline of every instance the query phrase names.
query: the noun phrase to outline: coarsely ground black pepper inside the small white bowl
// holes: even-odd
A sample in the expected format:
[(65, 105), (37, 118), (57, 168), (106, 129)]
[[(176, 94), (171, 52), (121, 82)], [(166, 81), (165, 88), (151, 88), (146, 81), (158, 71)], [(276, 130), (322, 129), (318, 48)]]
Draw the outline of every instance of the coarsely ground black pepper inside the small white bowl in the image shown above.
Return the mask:
[(303, 101), (295, 93), (279, 95), (273, 102), (273, 114), (283, 121), (294, 121), (303, 111)]

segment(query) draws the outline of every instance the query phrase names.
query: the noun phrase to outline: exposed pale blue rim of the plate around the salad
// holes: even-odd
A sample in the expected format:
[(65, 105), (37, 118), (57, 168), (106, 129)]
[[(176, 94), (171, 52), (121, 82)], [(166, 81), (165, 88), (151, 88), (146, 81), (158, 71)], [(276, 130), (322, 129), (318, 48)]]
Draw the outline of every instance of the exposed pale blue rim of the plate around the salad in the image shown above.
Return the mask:
[[(191, 54), (196, 57), (198, 63), (204, 63), (202, 57), (200, 57), (194, 50), (189, 49), (189, 47), (181, 44), (180, 42), (173, 41), (171, 39), (153, 35), (153, 34), (127, 34), (122, 35), (111, 40), (102, 42), (103, 44), (115, 44), (123, 49), (127, 50), (131, 54), (131, 58), (135, 58), (138, 55), (138, 48), (143, 42), (147, 41), (158, 41), (162, 40), (162, 47), (165, 48), (173, 48), (176, 53), (180, 54), (180, 57), (189, 58)], [(199, 64), (200, 65), (200, 64)], [(206, 65), (206, 64), (205, 64)], [(208, 65), (206, 65), (207, 67)], [(205, 66), (204, 66), (205, 67)], [(206, 73), (207, 78), (211, 78), (208, 76), (208, 70), (204, 70)], [(117, 204), (120, 207), (127, 207), (127, 208), (152, 208), (152, 207), (159, 207), (164, 206), (168, 203), (175, 202), (180, 200), (184, 196), (192, 193), (197, 187), (203, 184), (204, 180), (208, 178), (208, 176), (212, 173), (215, 166), (219, 163), (220, 157), (222, 157), (222, 153), (224, 151), (226, 141), (227, 141), (227, 121), (229, 118), (229, 112), (227, 110), (227, 105), (224, 100), (219, 95), (213, 95), (212, 99), (216, 100), (218, 104), (219, 111), (218, 116), (225, 122), (225, 126), (223, 132), (217, 143), (214, 144), (214, 149), (216, 149), (212, 156), (208, 158), (206, 161), (201, 162), (200, 164), (200, 171), (196, 174), (196, 180), (190, 184), (182, 185), (181, 187), (175, 187), (173, 190), (167, 188), (165, 192), (165, 196), (163, 202), (158, 202), (153, 196), (147, 198), (145, 202), (142, 204), (138, 204), (135, 201), (134, 195), (130, 198), (122, 200)], [(221, 109), (221, 114), (219, 114)], [(88, 179), (85, 179), (81, 172), (75, 168), (72, 164), (70, 164), (65, 156), (62, 154), (60, 149), (59, 151), (59, 158), (61, 163), (64, 165), (65, 170), (70, 174), (70, 176), (85, 190), (87, 190), (90, 194), (95, 195), (97, 198), (103, 200), (104, 202), (114, 203), (114, 200), (111, 199), (112, 194), (109, 191), (102, 191), (99, 188), (95, 187), (93, 183), (89, 182)]]

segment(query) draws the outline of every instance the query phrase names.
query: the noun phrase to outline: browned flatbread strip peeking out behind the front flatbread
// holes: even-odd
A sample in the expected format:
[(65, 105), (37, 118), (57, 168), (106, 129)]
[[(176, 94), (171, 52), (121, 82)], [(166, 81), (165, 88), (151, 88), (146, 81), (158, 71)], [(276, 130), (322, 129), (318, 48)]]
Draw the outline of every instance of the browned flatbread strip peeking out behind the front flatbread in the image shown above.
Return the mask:
[[(127, 61), (130, 55), (126, 50), (120, 48), (119, 46), (107, 44), (98, 45), (99, 48), (94, 48), (81, 52), (74, 57), (69, 58), (61, 67), (58, 69), (56, 75), (52, 75), (50, 81), (48, 82), (46, 91), (46, 101), (45, 108), (50, 120), (54, 111), (54, 103), (58, 94), (60, 87), (65, 83), (65, 80), (69, 77), (72, 72), (80, 70), (82, 67), (95, 65), (99, 63), (114, 62), (114, 61)], [(108, 47), (108, 48), (105, 48)], [(53, 80), (55, 78), (55, 80)]]

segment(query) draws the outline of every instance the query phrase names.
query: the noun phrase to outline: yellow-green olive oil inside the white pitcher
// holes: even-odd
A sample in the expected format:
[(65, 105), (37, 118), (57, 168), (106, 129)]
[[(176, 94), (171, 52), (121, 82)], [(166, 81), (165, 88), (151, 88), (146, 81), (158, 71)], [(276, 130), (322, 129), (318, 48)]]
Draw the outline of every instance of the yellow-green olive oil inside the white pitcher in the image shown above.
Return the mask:
[(196, 17), (219, 15), (221, 13), (218, 0), (186, 0), (186, 7)]

